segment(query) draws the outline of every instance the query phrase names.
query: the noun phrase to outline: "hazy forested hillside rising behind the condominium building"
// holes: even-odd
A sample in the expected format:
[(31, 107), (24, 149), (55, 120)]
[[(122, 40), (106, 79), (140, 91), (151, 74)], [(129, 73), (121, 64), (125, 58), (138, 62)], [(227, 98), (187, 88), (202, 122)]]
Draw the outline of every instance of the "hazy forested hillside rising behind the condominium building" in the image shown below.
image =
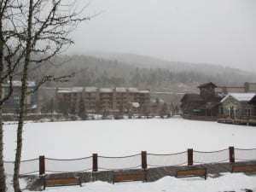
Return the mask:
[(41, 70), (40, 73), (74, 74), (69, 82), (48, 84), (50, 86), (136, 86), (170, 91), (174, 87), (196, 88), (198, 84), (209, 81), (220, 86), (239, 86), (256, 81), (255, 73), (239, 69), (162, 61), (139, 55), (130, 55), (130, 58), (128, 55), (124, 59), (122, 56), (109, 59), (90, 55), (62, 56), (53, 61), (62, 63), (60, 66)]

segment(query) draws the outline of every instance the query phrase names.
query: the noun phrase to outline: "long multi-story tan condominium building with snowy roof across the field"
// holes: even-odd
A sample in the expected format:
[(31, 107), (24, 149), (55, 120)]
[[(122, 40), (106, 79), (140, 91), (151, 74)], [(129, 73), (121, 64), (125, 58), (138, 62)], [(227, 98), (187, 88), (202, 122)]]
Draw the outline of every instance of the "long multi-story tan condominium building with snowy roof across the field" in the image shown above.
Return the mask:
[(150, 110), (149, 90), (137, 88), (60, 88), (56, 92), (56, 98), (60, 105), (62, 103), (67, 107), (69, 113), (79, 113), (80, 105), (83, 104), (88, 113), (131, 112), (133, 108), (142, 113), (146, 107)]

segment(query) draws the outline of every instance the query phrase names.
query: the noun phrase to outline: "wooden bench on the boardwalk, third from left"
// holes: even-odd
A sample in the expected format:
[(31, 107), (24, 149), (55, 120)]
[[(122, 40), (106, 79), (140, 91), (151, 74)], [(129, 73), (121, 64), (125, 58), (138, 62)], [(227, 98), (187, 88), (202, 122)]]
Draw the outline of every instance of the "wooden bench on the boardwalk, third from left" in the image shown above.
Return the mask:
[(207, 168), (192, 168), (177, 170), (176, 177), (205, 177), (207, 179)]

